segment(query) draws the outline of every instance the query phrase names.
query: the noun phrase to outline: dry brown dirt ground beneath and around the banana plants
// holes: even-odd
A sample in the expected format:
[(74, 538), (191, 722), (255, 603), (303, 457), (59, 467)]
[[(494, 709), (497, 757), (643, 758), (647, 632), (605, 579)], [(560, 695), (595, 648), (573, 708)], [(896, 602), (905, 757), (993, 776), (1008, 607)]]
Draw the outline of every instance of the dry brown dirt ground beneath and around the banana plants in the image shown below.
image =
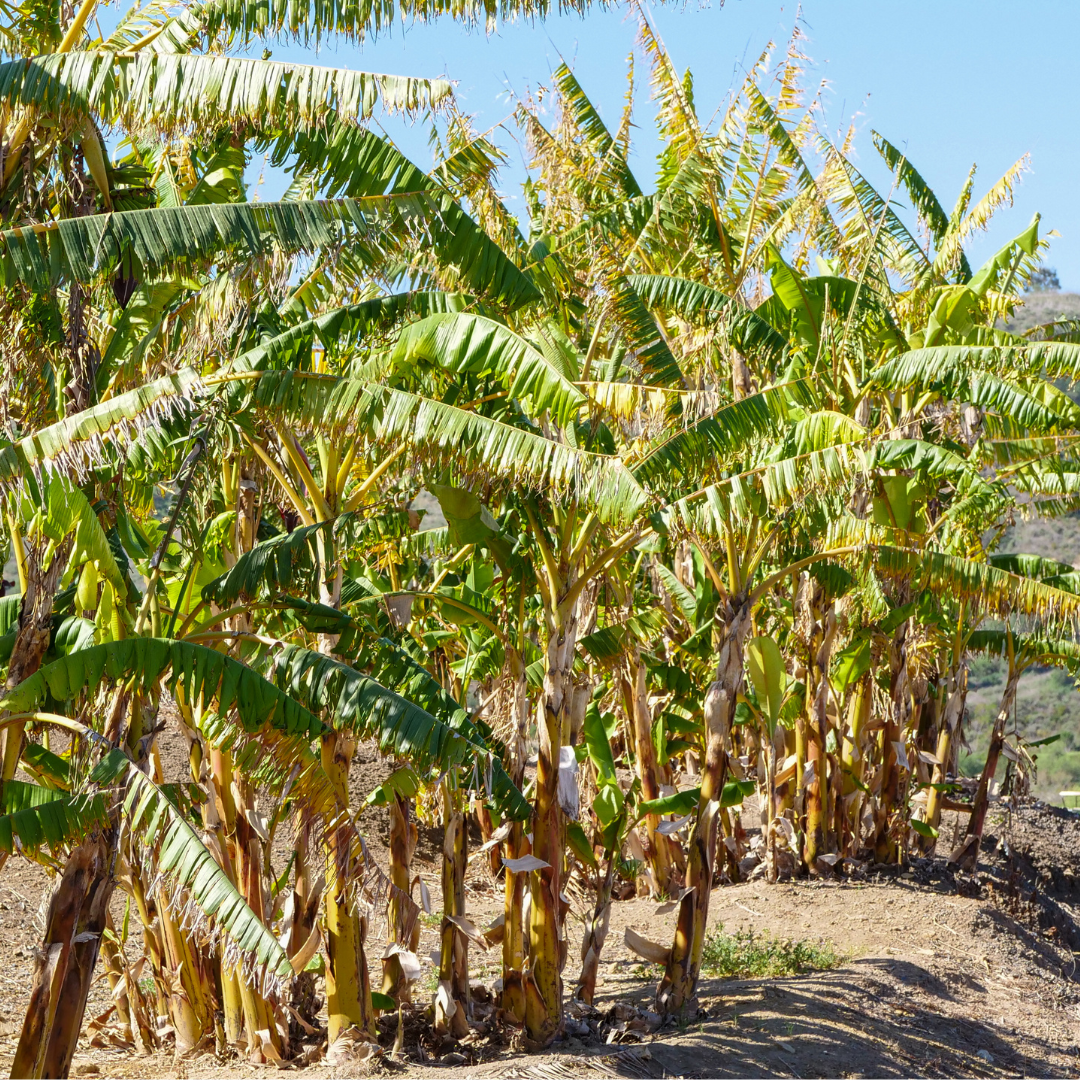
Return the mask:
[[(173, 750), (179, 757), (183, 748)], [(362, 747), (354, 795), (377, 783), (386, 768), (374, 748)], [(383, 858), (384, 815), (368, 811), (363, 824), (373, 853)], [(1040, 804), (999, 806), (987, 832), (993, 835), (985, 839), (975, 876), (957, 876), (941, 860), (922, 860), (889, 874), (855, 868), (831, 881), (717, 888), (710, 907), (713, 929), (825, 941), (845, 960), (833, 971), (789, 978), (704, 977), (701, 1012), (690, 1023), (635, 1029), (647, 1027), (639, 1017), (651, 1008), (659, 969), (643, 963), (623, 933), (632, 928), (667, 944), (675, 912), (634, 899), (612, 906), (597, 1011), (573, 1017), (577, 1034), (548, 1052), (524, 1053), (482, 1022), (468, 1044), (445, 1051), (407, 1037), (404, 1064), (380, 1055), (332, 1064), (313, 1047), (311, 1064), (281, 1067), (311, 1077), (1074, 1076), (1080, 1072), (1080, 972), (1074, 951), (1080, 950), (1080, 819)], [(422, 834), (414, 863), (436, 912), (438, 839), (435, 831)], [(46, 873), (23, 860), (11, 861), (0, 874), (0, 1069), (5, 1072), (29, 994), (48, 887)], [(487, 926), (501, 909), (501, 881), (492, 879), (483, 856), (471, 864), (468, 893), (470, 917)], [(581, 893), (571, 909), (565, 972), (571, 987), (586, 903)], [(420, 1028), (420, 1010), (431, 999), (434, 966), (427, 957), (437, 948), (437, 922), (436, 916), (423, 917), (419, 951), (426, 971), (415, 988), (417, 1018), (407, 1032)], [(381, 953), (382, 934), (377, 923), (369, 956)], [(490, 987), (499, 961), (498, 948), (471, 948), (474, 982)], [(378, 985), (377, 959), (372, 967)], [(483, 998), (478, 990), (477, 1001)], [(103, 977), (87, 1020), (108, 1004)], [(389, 1047), (394, 1022), (382, 1023)], [(140, 1057), (94, 1047), (84, 1032), (72, 1075), (225, 1080), (267, 1071), (213, 1054)]]

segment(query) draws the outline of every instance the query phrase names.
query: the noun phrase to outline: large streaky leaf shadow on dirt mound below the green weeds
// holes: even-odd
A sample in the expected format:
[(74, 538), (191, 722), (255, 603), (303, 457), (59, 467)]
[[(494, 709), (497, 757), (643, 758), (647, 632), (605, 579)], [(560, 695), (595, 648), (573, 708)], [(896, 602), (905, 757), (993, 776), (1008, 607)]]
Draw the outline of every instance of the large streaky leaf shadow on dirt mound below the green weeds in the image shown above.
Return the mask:
[[(887, 958), (791, 980), (703, 978), (699, 996), (706, 1018), (664, 1029), (643, 1045), (567, 1055), (555, 1070), (549, 1058), (513, 1076), (1066, 1075), (1048, 1071), (1048, 1056), (1061, 1048), (1026, 1039), (1018, 1051), (995, 1026), (964, 1013), (971, 995), (983, 989), (971, 976), (950, 987), (926, 968)], [(637, 996), (646, 1003), (647, 988)]]

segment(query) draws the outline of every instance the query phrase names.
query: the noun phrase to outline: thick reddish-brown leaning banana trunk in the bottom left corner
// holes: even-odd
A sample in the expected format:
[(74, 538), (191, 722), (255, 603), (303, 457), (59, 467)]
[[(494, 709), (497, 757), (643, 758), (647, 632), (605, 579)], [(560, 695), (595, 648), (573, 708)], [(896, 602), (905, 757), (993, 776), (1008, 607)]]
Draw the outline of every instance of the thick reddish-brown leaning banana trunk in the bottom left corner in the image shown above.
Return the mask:
[(71, 852), (53, 890), (13, 1077), (66, 1077), (71, 1068), (112, 896), (111, 829)]

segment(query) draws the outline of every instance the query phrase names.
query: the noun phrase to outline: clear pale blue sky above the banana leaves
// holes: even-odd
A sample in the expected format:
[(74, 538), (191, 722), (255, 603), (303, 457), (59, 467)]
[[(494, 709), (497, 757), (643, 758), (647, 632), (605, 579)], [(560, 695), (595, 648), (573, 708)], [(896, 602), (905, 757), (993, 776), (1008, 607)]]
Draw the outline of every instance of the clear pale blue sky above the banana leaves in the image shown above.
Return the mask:
[[(987, 237), (976, 239), (977, 262), (1042, 213), (1042, 229), (1059, 239), (1047, 258), (1065, 289), (1080, 292), (1080, 199), (1076, 177), (1077, 0), (805, 0), (801, 10), (779, 0), (727, 0), (699, 8), (692, 0), (648, 8), (679, 70), (694, 75), (699, 114), (712, 114), (741, 82), (745, 68), (768, 44), (783, 48), (796, 17), (807, 36), (808, 78), (828, 81), (825, 122), (836, 132), (855, 119), (858, 162), (885, 190), (870, 131), (880, 131), (907, 152), (946, 210), (975, 162), (977, 199), (1024, 153), (1031, 170)], [(457, 82), (462, 108), (481, 129), (511, 111), (512, 94), (550, 81), (566, 58), (609, 124), (618, 121), (625, 92), (626, 57), (636, 21), (629, 9), (591, 11), (584, 17), (553, 16), (544, 23), (508, 24), (491, 37), (449, 21), (395, 28), (363, 46), (330, 45), (315, 58), (297, 45), (276, 44), (275, 59), (399, 75), (447, 76)], [(260, 50), (253, 50), (258, 55)], [(657, 144), (648, 102), (648, 70), (638, 57), (638, 148), (632, 165), (649, 187)], [(512, 125), (510, 125), (512, 127)], [(388, 130), (402, 148), (427, 164), (426, 135), (418, 127)], [(499, 138), (513, 150), (509, 133)], [(519, 156), (515, 153), (519, 162)], [(502, 187), (516, 194), (521, 166), (508, 170)], [(262, 198), (278, 185), (268, 177)], [(518, 204), (519, 205), (519, 204)]]

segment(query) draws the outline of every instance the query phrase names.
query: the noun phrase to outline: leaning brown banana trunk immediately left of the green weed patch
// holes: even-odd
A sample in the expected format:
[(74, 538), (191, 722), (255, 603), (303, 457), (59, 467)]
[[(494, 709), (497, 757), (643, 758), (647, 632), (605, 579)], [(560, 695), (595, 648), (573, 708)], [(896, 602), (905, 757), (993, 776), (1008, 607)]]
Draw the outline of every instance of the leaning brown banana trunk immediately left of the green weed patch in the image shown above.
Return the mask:
[(747, 598), (737, 596), (729, 599), (724, 611), (716, 678), (705, 694), (705, 761), (701, 772), (698, 821), (690, 835), (687, 892), (679, 903), (675, 941), (667, 955), (664, 976), (657, 988), (657, 1011), (661, 1015), (683, 1013), (693, 1000), (698, 987), (713, 888), (716, 815), (731, 750), (731, 724), (743, 685), (743, 647), (750, 627), (751, 605)]

